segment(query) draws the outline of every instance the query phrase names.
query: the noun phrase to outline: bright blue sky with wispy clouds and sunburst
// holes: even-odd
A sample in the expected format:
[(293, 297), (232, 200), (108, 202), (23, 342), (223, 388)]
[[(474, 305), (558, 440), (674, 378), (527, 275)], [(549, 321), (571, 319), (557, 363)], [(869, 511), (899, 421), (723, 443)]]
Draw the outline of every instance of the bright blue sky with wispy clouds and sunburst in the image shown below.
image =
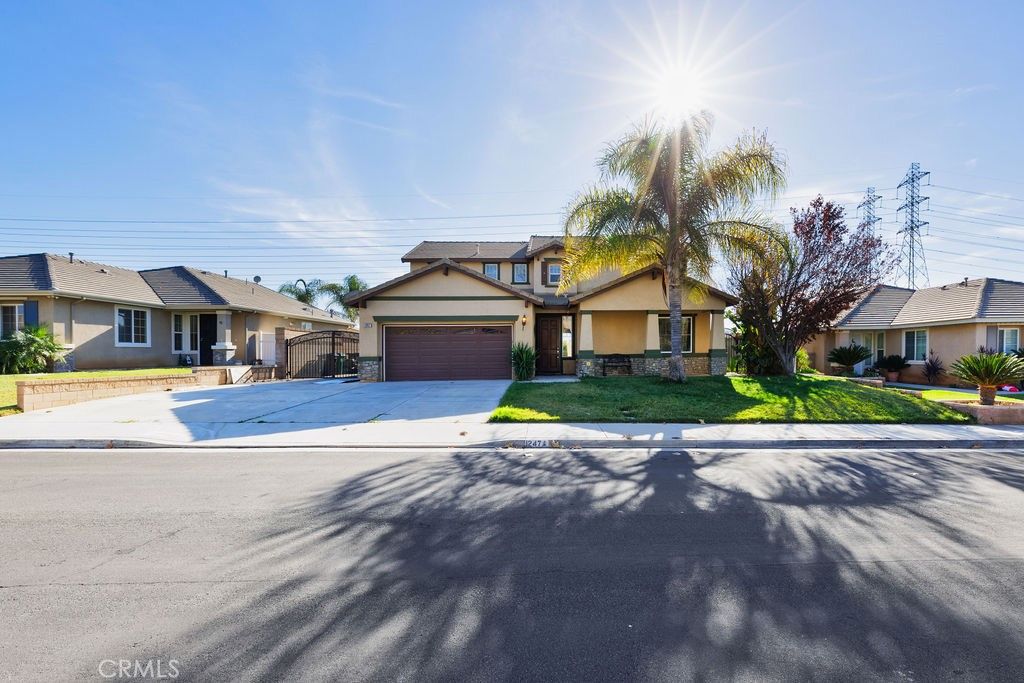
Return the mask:
[[(856, 220), (874, 185), (892, 238), (916, 161), (932, 284), (1020, 280), (1022, 19), (1014, 3), (6, 3), (0, 253), (377, 283), (420, 240), (557, 232), (681, 61), (715, 146), (757, 128), (784, 151), (779, 217), (823, 193)], [(124, 222), (7, 220), (29, 217)]]

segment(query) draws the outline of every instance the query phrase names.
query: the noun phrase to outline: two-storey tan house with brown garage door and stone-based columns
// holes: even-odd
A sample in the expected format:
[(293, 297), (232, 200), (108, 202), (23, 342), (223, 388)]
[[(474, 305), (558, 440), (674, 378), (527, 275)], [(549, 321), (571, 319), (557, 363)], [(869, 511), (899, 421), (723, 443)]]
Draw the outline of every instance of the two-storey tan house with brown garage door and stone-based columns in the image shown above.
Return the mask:
[[(510, 349), (537, 350), (542, 375), (664, 374), (669, 317), (657, 267), (605, 272), (559, 294), (564, 244), (424, 242), (410, 271), (354, 293), (359, 377), (366, 381), (509, 379)], [(731, 295), (686, 288), (683, 347), (693, 375), (725, 373), (724, 310)]]

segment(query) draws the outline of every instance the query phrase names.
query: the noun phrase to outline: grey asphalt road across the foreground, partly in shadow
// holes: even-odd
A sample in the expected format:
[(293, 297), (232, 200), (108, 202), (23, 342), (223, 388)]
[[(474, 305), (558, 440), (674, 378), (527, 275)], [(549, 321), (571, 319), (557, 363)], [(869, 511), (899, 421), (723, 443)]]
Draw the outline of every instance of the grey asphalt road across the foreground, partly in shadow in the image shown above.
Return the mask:
[(1024, 453), (0, 454), (0, 680), (126, 672), (1022, 680)]

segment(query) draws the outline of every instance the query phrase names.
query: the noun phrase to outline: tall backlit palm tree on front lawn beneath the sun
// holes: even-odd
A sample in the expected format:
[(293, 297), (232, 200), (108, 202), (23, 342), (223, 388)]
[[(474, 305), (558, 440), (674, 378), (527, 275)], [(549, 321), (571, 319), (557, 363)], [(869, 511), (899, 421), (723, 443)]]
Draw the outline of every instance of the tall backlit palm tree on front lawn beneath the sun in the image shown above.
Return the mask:
[[(712, 127), (707, 112), (674, 126), (640, 124), (606, 150), (598, 162), (604, 183), (577, 197), (565, 219), (563, 290), (604, 268), (627, 274), (660, 265), (672, 331), (669, 376), (677, 381), (686, 378), (684, 285), (690, 276), (710, 280), (719, 252), (756, 252), (771, 227), (752, 201), (785, 186), (785, 164), (765, 135), (742, 135), (711, 155)], [(698, 284), (691, 287), (700, 294)]]

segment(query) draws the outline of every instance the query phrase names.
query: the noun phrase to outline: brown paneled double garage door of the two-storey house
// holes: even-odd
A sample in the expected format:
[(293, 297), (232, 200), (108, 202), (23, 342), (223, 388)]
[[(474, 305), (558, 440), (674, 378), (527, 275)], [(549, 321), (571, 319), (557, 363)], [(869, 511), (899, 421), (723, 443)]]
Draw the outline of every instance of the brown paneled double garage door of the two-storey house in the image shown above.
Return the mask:
[(507, 380), (509, 326), (384, 328), (385, 380)]

